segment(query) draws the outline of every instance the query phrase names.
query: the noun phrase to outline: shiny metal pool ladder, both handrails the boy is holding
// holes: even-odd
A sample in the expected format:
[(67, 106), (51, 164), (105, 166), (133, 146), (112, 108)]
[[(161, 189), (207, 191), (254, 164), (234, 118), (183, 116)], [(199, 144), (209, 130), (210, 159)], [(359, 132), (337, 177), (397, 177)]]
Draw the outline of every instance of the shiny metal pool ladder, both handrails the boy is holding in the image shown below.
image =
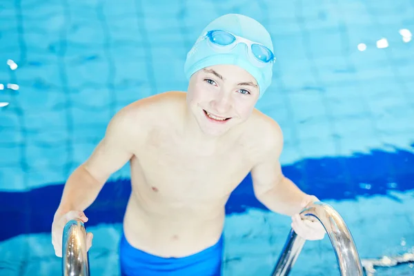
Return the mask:
[[(315, 202), (302, 210), (301, 216), (304, 219), (315, 217), (322, 223), (331, 239), (342, 276), (364, 275), (353, 237), (337, 211), (328, 204)], [(304, 244), (305, 239), (290, 230), (272, 276), (288, 275)], [(66, 224), (63, 230), (62, 248), (63, 276), (89, 276), (86, 230), (82, 221), (71, 220)]]

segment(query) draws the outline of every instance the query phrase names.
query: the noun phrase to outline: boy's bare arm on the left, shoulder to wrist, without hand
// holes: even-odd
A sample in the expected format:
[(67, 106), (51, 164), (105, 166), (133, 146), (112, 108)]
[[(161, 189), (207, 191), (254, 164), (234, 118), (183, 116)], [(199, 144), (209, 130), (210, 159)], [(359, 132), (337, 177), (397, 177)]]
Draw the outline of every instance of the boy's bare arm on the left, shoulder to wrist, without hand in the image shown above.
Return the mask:
[(113, 172), (119, 170), (132, 157), (135, 133), (132, 106), (127, 106), (115, 115), (92, 155), (68, 178), (57, 215), (69, 210), (85, 210), (97, 198), (103, 184)]

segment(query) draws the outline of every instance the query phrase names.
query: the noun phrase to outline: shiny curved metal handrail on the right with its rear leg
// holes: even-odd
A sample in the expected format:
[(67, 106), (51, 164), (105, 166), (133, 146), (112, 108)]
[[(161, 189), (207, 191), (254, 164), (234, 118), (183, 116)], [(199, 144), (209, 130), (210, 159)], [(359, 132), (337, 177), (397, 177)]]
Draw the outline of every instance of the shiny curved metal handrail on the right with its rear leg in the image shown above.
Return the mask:
[[(339, 264), (339, 272), (342, 276), (363, 276), (361, 259), (353, 237), (344, 219), (328, 204), (315, 202), (302, 210), (301, 217), (311, 219), (315, 217), (324, 226)], [(288, 239), (282, 254), (277, 260), (272, 276), (286, 276), (295, 264), (300, 251), (305, 244), (305, 239), (299, 237), (295, 231), (290, 230)]]

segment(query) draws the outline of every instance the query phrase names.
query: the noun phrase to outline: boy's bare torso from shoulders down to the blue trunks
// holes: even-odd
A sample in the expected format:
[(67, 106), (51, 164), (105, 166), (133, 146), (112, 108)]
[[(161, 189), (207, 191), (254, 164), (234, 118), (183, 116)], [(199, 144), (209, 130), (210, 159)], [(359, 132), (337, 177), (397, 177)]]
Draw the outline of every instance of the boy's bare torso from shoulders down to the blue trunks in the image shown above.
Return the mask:
[[(178, 97), (185, 102), (185, 96)], [(230, 135), (208, 154), (189, 146), (178, 130), (180, 112), (175, 108), (179, 105), (161, 108), (165, 116), (170, 114), (168, 119), (151, 124), (146, 139), (137, 145), (130, 160), (132, 193), (124, 217), (128, 242), (161, 257), (192, 255), (219, 240), (226, 201), (255, 159), (250, 134), (243, 132)]]

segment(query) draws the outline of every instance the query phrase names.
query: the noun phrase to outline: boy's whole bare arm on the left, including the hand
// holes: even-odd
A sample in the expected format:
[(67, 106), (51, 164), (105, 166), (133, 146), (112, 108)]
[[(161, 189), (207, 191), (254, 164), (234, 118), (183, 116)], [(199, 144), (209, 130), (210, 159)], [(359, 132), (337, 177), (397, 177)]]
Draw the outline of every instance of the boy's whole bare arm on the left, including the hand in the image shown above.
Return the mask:
[[(134, 144), (142, 133), (134, 127), (139, 121), (135, 109), (135, 104), (127, 106), (111, 119), (92, 155), (66, 181), (52, 222), (52, 244), (58, 257), (62, 256), (63, 227), (70, 219), (88, 221), (83, 210), (95, 201), (110, 175), (132, 157)], [(92, 238), (92, 233), (87, 233), (87, 250), (92, 246)]]

